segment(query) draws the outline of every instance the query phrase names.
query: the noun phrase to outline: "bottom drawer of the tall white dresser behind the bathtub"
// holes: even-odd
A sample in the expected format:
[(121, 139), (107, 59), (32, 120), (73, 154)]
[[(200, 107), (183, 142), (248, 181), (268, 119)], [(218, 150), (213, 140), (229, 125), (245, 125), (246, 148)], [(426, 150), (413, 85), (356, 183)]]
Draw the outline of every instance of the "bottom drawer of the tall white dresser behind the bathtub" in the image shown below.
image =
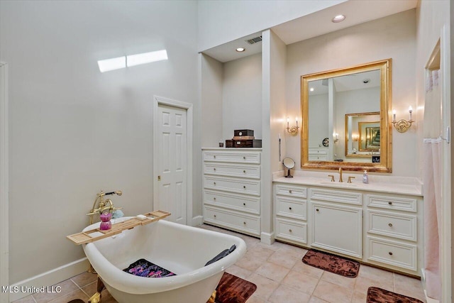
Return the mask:
[(241, 214), (236, 211), (204, 206), (204, 221), (226, 228), (235, 229), (254, 236), (260, 236), (260, 217)]

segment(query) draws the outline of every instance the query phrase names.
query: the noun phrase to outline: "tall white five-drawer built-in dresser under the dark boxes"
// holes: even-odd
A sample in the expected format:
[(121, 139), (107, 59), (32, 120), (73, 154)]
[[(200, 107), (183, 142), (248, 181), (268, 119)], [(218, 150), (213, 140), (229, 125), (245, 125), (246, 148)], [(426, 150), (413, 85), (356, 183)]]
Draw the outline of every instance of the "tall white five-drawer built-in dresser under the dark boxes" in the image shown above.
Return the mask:
[(206, 224), (260, 237), (261, 148), (202, 148)]

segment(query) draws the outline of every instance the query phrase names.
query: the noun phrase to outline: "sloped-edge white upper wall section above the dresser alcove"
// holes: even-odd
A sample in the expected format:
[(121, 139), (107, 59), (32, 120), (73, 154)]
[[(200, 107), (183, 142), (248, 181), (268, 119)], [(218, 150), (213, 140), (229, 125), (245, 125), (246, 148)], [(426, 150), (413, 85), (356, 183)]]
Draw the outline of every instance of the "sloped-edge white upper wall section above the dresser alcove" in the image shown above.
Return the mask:
[(345, 0), (199, 0), (199, 51), (309, 15)]

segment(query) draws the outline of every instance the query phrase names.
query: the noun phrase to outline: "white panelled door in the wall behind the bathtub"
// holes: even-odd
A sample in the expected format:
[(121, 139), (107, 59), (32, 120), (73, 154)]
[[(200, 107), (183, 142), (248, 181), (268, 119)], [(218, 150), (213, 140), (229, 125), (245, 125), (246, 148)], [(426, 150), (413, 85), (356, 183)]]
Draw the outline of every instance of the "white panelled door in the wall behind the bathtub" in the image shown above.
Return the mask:
[(187, 111), (158, 105), (157, 201), (170, 221), (187, 224)]

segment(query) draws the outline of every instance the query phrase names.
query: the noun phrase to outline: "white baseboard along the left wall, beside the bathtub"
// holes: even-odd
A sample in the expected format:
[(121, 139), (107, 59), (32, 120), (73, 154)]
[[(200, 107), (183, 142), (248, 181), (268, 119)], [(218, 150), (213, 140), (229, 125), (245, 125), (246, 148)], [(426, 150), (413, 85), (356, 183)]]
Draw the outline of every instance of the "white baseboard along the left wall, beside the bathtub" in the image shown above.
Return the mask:
[[(30, 288), (33, 287), (48, 287), (74, 277), (74, 275), (79, 275), (80, 273), (87, 271), (90, 263), (87, 258), (82, 258), (74, 262), (60, 266), (48, 272), (43, 272), (40, 275), (35, 275), (35, 277), (28, 278), (21, 282), (11, 285), (11, 292), (9, 293), (9, 302), (22, 299), (23, 297), (32, 294)], [(17, 290), (17, 292), (16, 292)]]

